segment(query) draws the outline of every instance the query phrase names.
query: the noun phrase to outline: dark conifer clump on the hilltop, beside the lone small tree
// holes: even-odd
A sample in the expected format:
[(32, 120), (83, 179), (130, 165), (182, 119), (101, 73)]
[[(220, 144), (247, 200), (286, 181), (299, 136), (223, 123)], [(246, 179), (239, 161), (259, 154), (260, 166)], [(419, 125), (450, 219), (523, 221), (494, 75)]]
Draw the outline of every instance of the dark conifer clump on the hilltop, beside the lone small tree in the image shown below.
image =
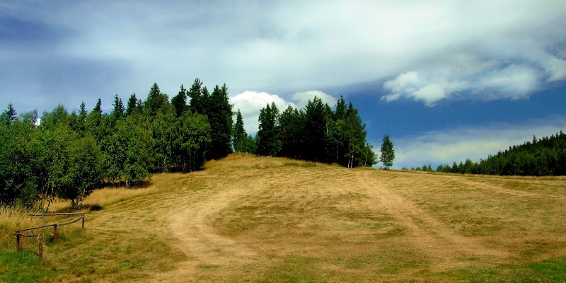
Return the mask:
[(255, 139), (243, 130), (236, 117), (234, 149), (262, 156), (284, 156), (346, 167), (371, 166), (377, 162), (366, 141), (365, 125), (352, 103), (340, 97), (335, 110), (315, 97), (304, 109), (288, 105), (279, 112), (271, 103), (260, 110)]

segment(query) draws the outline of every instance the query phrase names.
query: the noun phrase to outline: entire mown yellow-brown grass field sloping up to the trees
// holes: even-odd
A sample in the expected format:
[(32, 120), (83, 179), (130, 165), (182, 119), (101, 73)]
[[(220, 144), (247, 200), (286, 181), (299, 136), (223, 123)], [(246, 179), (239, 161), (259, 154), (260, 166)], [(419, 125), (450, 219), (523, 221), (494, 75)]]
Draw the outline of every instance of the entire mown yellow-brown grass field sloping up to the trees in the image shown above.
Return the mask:
[[(88, 197), (16, 253), (0, 214), (1, 282), (565, 282), (566, 178), (348, 169), (233, 154), (204, 171)], [(52, 211), (67, 211), (58, 202)], [(49, 238), (52, 230), (42, 231)]]

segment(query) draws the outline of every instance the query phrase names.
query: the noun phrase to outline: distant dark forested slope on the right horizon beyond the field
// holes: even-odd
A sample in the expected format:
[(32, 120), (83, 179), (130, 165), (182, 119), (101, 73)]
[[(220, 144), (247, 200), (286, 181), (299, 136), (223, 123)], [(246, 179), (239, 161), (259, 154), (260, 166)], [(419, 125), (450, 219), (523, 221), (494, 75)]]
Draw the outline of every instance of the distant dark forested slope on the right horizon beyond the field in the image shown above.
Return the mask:
[[(412, 170), (433, 171), (432, 166), (424, 165)], [(495, 156), (489, 156), (479, 163), (466, 159), (465, 162), (437, 167), (437, 172), (485, 174), (485, 175), (566, 175), (566, 134), (556, 133), (550, 137), (526, 141), (519, 146), (509, 146)]]

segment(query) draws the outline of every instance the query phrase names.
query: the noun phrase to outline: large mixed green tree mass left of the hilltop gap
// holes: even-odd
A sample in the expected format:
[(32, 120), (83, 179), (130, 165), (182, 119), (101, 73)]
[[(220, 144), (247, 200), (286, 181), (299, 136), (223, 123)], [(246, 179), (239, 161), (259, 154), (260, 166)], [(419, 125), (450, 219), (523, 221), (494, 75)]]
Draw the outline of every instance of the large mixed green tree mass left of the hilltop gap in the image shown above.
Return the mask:
[[(187, 104), (187, 98), (190, 103)], [(81, 103), (0, 115), (0, 205), (48, 209), (54, 197), (78, 206), (103, 183), (135, 185), (151, 173), (194, 171), (232, 152), (232, 106), (226, 85), (210, 93), (199, 79), (171, 101), (156, 83), (146, 100), (115, 96), (103, 113)]]

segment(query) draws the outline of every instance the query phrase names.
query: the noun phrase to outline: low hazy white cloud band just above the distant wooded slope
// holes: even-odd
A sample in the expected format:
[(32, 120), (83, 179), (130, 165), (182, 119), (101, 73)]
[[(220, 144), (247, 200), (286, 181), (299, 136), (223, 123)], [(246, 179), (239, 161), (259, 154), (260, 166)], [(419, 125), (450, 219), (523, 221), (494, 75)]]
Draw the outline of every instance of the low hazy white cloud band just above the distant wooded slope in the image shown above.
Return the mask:
[[(566, 117), (538, 120), (522, 125), (493, 125), (491, 127), (468, 127), (447, 129), (421, 134), (417, 137), (393, 139), (395, 168), (417, 167), (431, 163), (459, 163), (470, 158), (479, 162), (490, 154), (504, 151), (509, 146), (548, 137), (566, 129)], [(377, 148), (377, 147), (376, 147)]]

